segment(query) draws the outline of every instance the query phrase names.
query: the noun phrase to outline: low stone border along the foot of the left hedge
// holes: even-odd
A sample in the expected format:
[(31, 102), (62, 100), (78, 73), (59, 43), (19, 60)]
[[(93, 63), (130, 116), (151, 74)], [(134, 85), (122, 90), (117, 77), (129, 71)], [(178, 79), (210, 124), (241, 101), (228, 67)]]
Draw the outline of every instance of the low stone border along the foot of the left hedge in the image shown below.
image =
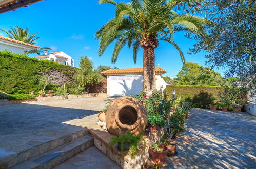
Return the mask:
[[(88, 93), (81, 95), (68, 95), (68, 99), (76, 99), (76, 98), (87, 98), (87, 97), (107, 97), (106, 93)], [(52, 97), (36, 97), (33, 99), (25, 99), (25, 100), (0, 100), (0, 105), (3, 104), (17, 104), (24, 102), (42, 102), (42, 101), (51, 101), (51, 100), (64, 100), (62, 96), (52, 96)]]

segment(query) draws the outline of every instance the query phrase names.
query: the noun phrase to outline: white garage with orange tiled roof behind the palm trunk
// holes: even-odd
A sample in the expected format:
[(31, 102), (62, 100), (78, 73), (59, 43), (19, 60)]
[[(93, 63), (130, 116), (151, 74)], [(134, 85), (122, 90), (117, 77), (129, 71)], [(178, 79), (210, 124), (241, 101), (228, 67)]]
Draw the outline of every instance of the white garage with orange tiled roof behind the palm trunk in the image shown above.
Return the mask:
[[(161, 86), (163, 89), (166, 83), (161, 75), (167, 71), (155, 67), (155, 85), (159, 90)], [(107, 76), (107, 96), (130, 96), (131, 94), (139, 94), (143, 90), (143, 68), (130, 69), (109, 69), (102, 72)]]

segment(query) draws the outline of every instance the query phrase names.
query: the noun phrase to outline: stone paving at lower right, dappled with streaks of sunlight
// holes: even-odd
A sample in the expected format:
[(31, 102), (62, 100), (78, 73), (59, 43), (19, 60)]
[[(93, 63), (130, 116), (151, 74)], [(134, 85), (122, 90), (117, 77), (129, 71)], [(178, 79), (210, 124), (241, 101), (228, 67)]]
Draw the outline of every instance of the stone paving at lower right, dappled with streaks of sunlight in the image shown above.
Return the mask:
[(192, 109), (169, 168), (256, 168), (256, 117)]

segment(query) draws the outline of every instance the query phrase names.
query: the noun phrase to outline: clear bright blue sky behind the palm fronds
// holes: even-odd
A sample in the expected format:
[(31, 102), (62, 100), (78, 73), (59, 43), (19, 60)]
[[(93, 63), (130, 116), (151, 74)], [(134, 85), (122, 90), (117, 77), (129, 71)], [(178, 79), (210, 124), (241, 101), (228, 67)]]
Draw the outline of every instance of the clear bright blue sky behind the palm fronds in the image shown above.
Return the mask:
[[(94, 34), (103, 24), (114, 17), (114, 6), (111, 4), (97, 4), (95, 0), (77, 0), (75, 3), (67, 0), (47, 0), (28, 7), (17, 9), (0, 15), (0, 28), (9, 29), (11, 26), (28, 27), (32, 32), (39, 32), (40, 47), (51, 47), (52, 52), (64, 51), (75, 60), (78, 67), (80, 56), (92, 59), (94, 67), (98, 65), (117, 66), (119, 68), (143, 67), (143, 50), (140, 50), (137, 64), (132, 60), (132, 49), (124, 48), (116, 64), (111, 64), (113, 45), (109, 46), (103, 56), (97, 55), (99, 41)], [(4, 35), (0, 32), (0, 35)], [(195, 41), (177, 33), (174, 40), (185, 54), (187, 62), (197, 62), (205, 66), (205, 53), (187, 54)], [(35, 55), (33, 55), (35, 56)], [(164, 76), (175, 77), (182, 67), (179, 53), (168, 43), (160, 42), (155, 50), (155, 65), (167, 70)], [(223, 75), (223, 70), (218, 70)]]

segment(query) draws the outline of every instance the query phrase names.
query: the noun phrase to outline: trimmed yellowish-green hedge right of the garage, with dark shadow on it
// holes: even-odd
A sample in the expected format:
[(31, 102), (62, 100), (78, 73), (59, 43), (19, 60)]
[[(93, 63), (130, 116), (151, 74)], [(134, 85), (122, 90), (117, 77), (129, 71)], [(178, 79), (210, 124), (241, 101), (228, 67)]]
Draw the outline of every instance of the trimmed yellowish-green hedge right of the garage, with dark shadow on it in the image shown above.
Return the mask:
[(218, 100), (218, 92), (223, 88), (218, 86), (197, 85), (166, 85), (168, 99), (172, 99), (172, 90), (176, 90), (176, 97), (190, 100), (194, 107), (207, 108), (209, 103)]

